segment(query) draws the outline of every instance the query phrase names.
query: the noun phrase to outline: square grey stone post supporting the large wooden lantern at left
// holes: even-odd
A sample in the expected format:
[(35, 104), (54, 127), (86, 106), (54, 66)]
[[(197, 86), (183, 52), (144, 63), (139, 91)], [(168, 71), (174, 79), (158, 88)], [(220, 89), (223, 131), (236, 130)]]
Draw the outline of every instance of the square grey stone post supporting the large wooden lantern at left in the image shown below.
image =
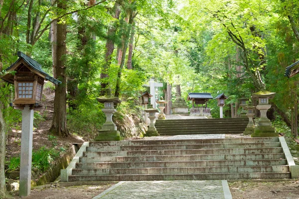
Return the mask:
[(21, 162), (19, 196), (28, 196), (31, 189), (31, 162), (33, 137), (33, 109), (26, 104), (22, 110)]

